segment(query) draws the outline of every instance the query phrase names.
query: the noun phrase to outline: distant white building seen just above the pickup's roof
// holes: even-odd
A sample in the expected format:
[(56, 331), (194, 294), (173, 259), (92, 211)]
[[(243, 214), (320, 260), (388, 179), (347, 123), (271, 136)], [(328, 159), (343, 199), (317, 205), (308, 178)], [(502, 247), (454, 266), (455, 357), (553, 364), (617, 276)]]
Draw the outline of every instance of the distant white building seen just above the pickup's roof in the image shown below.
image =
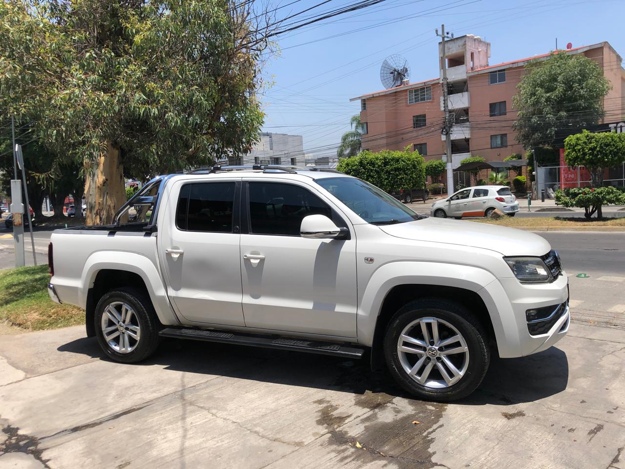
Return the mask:
[(250, 153), (231, 156), (229, 164), (282, 164), (304, 166), (304, 138), (301, 135), (262, 132)]

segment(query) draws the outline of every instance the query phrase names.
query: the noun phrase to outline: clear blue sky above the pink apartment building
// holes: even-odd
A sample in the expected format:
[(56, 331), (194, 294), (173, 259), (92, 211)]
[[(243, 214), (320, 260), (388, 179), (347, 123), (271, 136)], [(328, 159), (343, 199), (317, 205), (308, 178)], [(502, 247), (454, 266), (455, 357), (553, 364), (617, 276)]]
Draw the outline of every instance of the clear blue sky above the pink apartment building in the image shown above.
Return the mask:
[[(292, 1), (292, 0), (290, 0)], [(281, 0), (281, 4), (289, 0)], [(276, 13), (279, 18), (320, 3), (301, 0)], [(352, 3), (332, 0), (316, 11)], [(349, 117), (360, 104), (349, 102), (382, 89), (380, 64), (401, 54), (411, 66), (411, 83), (436, 78), (435, 28), (445, 24), (455, 36), (475, 34), (491, 43), (489, 63), (608, 41), (625, 56), (623, 0), (386, 0), (279, 36), (279, 54), (267, 63), (272, 86), (260, 96), (263, 130), (301, 134), (312, 156), (336, 153)], [(384, 24), (386, 23), (386, 24)], [(361, 31), (354, 31), (361, 28)], [(346, 34), (344, 34), (346, 33)], [(329, 38), (330, 36), (339, 37)], [(327, 38), (327, 39), (326, 39)], [(322, 39), (319, 41), (319, 39)], [(316, 41), (316, 42), (312, 42)]]

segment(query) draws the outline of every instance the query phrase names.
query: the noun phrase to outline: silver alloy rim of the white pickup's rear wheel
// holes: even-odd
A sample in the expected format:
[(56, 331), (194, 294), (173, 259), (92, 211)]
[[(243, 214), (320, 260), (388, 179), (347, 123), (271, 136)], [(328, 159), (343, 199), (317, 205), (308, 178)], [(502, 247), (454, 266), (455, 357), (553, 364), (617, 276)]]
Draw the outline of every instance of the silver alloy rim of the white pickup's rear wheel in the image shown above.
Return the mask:
[(102, 315), (101, 326), (104, 341), (118, 353), (130, 353), (141, 340), (139, 317), (128, 303), (110, 303)]

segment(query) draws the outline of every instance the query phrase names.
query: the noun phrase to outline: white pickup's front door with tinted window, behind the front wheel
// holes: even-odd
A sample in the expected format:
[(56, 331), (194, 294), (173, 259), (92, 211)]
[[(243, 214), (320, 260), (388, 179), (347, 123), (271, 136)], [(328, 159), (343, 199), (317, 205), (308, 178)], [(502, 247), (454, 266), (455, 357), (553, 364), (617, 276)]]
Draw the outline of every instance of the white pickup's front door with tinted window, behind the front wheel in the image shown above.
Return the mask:
[(249, 227), (242, 228), (240, 261), (246, 326), (355, 337), (356, 238), (299, 234), (307, 215), (325, 215), (337, 226), (348, 227), (346, 222), (306, 184), (267, 177), (245, 181)]

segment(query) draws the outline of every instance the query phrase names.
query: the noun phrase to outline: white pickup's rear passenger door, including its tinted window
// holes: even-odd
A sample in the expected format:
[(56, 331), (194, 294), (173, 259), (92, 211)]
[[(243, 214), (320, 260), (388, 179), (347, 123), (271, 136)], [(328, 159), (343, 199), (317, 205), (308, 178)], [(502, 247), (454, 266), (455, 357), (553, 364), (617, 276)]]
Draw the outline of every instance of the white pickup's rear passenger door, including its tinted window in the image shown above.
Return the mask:
[[(159, 258), (179, 315), (244, 326), (238, 215), (240, 179), (176, 181), (159, 219)], [(161, 216), (159, 216), (161, 218)]]

